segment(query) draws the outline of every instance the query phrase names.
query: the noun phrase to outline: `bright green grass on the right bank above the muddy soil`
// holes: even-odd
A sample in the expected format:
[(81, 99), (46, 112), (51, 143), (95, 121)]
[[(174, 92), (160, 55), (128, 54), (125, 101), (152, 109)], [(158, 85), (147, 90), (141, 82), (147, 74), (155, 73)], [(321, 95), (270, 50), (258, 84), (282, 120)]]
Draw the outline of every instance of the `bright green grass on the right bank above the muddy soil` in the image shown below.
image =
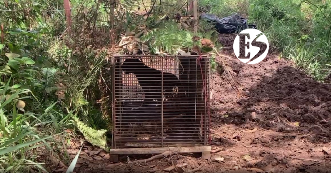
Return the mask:
[(255, 23), (282, 58), (319, 81), (330, 81), (331, 6), (328, 0), (206, 0), (206, 13), (226, 17), (239, 13)]

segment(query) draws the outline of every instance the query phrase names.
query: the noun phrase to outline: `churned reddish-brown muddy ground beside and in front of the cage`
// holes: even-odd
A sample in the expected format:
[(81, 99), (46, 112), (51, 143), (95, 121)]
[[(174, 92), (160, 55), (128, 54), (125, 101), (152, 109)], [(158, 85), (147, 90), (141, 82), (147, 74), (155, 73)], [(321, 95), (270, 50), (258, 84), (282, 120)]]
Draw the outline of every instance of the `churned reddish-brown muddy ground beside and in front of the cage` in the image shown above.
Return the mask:
[[(212, 149), (219, 152), (212, 154), (212, 160), (173, 155), (128, 165), (125, 156), (122, 163), (112, 164), (105, 152), (90, 156), (88, 151), (98, 149), (84, 147), (75, 172), (153, 173), (178, 163), (187, 163), (185, 171), (196, 169), (197, 173), (328, 172), (331, 169), (331, 86), (315, 82), (274, 53), (269, 53), (259, 64), (245, 65), (233, 53), (234, 38), (235, 35), (220, 35), (219, 41), (224, 46), (220, 53), (233, 57), (222, 59), (242, 96), (237, 94), (227, 72), (213, 73)], [(219, 57), (216, 61), (221, 63)], [(78, 150), (79, 144), (68, 149), (71, 159)], [(130, 156), (129, 159), (149, 157)], [(56, 161), (54, 166), (54, 160), (46, 163), (52, 171), (65, 170)]]

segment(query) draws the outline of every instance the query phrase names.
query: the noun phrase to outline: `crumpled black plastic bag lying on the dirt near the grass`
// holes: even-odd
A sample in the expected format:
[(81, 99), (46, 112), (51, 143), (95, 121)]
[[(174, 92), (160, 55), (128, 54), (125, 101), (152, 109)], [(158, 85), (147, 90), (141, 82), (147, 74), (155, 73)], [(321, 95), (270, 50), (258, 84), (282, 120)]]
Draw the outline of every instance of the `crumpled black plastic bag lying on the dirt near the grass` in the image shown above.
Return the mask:
[(203, 13), (200, 18), (213, 23), (219, 33), (235, 33), (247, 28), (256, 28), (254, 24), (248, 25), (247, 19), (240, 17), (238, 14), (219, 19), (216, 15)]

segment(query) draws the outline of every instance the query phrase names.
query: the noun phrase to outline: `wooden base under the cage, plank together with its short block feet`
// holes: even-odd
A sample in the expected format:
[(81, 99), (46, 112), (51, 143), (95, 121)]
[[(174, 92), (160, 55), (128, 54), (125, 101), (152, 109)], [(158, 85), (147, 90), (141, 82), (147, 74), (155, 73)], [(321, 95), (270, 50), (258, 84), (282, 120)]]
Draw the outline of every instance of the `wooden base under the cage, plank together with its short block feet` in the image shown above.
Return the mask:
[(131, 154), (161, 154), (166, 151), (177, 153), (201, 153), (201, 158), (210, 159), (211, 146), (196, 146), (196, 147), (163, 147), (163, 148), (135, 148), (135, 149), (111, 149), (109, 152), (109, 160), (118, 162), (118, 155)]

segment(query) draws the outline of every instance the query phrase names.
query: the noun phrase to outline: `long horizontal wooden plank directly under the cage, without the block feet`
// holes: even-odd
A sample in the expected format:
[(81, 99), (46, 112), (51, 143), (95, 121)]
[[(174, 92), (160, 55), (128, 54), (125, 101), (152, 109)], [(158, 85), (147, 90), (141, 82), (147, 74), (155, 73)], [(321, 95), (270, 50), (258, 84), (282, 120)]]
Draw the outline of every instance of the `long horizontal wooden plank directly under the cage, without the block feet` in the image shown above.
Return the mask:
[(166, 151), (188, 153), (188, 152), (210, 152), (210, 146), (202, 147), (169, 147), (169, 148), (136, 148), (136, 149), (110, 149), (110, 155), (130, 155), (130, 154), (160, 154)]

